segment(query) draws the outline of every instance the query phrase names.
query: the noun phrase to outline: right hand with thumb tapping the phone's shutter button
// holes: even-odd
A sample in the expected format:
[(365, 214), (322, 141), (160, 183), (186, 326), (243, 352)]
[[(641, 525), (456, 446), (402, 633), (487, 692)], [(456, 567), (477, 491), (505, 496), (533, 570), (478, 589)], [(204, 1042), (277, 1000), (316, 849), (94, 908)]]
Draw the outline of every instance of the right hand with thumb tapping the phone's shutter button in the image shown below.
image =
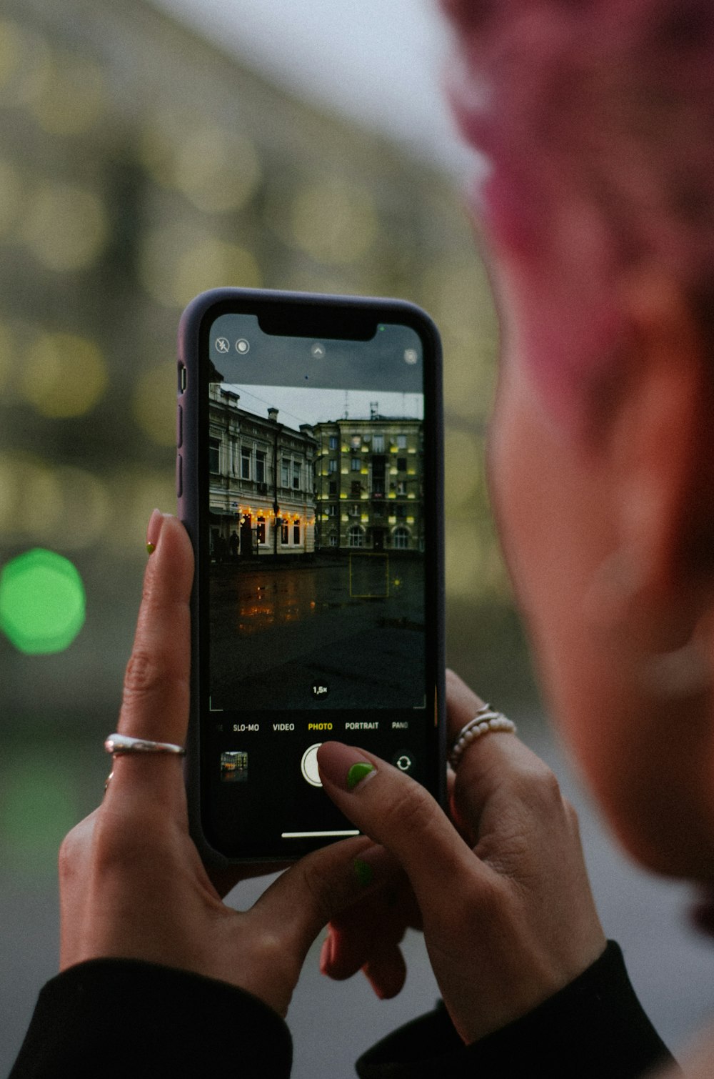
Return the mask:
[[(448, 672), (449, 738), (482, 701)], [(457, 828), (414, 780), (339, 742), (318, 752), (325, 790), (357, 828), (401, 863), (418, 906), (431, 966), (452, 1021), (470, 1043), (552, 996), (603, 952), (575, 810), (550, 769), (512, 734), (464, 752), (451, 784)], [(365, 762), (365, 771), (353, 789)], [(348, 777), (351, 777), (348, 779)], [(370, 903), (379, 902), (379, 893)], [(376, 958), (388, 984), (404, 925), (376, 942), (353, 907), (335, 918), (322, 969)], [(371, 950), (371, 951), (370, 951)], [(346, 964), (343, 962), (343, 972)], [(369, 971), (368, 971), (369, 973)], [(374, 979), (373, 979), (374, 980)]]

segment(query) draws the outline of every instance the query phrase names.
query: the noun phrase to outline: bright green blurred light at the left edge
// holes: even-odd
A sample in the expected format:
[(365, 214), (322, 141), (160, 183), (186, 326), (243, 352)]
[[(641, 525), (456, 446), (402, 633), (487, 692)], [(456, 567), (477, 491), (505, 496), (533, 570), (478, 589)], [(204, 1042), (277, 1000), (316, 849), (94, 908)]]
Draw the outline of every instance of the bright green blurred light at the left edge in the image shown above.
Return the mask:
[(0, 629), (27, 655), (64, 652), (85, 617), (82, 578), (72, 563), (36, 547), (0, 573)]

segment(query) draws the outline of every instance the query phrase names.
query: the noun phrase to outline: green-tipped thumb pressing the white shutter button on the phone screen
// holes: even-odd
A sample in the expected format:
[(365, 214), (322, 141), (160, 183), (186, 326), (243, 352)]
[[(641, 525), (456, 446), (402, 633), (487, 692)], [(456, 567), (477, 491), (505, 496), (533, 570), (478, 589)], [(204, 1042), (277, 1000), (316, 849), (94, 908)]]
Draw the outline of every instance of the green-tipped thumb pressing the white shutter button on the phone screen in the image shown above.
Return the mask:
[[(325, 791), (360, 831), (386, 847), (422, 909), (476, 859), (421, 783), (361, 749), (326, 741), (317, 753)], [(477, 863), (478, 864), (478, 863)], [(436, 889), (436, 891), (435, 891)]]

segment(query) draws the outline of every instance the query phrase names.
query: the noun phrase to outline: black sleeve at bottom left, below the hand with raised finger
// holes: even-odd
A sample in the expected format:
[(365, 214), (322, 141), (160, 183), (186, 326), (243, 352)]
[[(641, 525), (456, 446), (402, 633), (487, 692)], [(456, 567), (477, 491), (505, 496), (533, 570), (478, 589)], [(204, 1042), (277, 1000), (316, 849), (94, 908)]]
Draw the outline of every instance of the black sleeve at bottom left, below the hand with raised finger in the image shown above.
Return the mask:
[(225, 982), (129, 959), (70, 967), (40, 993), (11, 1079), (284, 1079), (280, 1016)]

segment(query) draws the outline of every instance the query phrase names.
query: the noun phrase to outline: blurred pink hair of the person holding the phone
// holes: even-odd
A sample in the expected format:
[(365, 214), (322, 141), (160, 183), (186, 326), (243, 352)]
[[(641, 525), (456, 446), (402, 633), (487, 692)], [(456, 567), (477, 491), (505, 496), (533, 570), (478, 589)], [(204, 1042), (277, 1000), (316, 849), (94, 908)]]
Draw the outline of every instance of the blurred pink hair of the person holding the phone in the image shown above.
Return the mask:
[(623, 268), (653, 260), (699, 311), (714, 304), (714, 8), (442, 5), (464, 60), (456, 115), (490, 162), (477, 216), (547, 283), (526, 351), (547, 398), (569, 411), (583, 380), (613, 367)]

